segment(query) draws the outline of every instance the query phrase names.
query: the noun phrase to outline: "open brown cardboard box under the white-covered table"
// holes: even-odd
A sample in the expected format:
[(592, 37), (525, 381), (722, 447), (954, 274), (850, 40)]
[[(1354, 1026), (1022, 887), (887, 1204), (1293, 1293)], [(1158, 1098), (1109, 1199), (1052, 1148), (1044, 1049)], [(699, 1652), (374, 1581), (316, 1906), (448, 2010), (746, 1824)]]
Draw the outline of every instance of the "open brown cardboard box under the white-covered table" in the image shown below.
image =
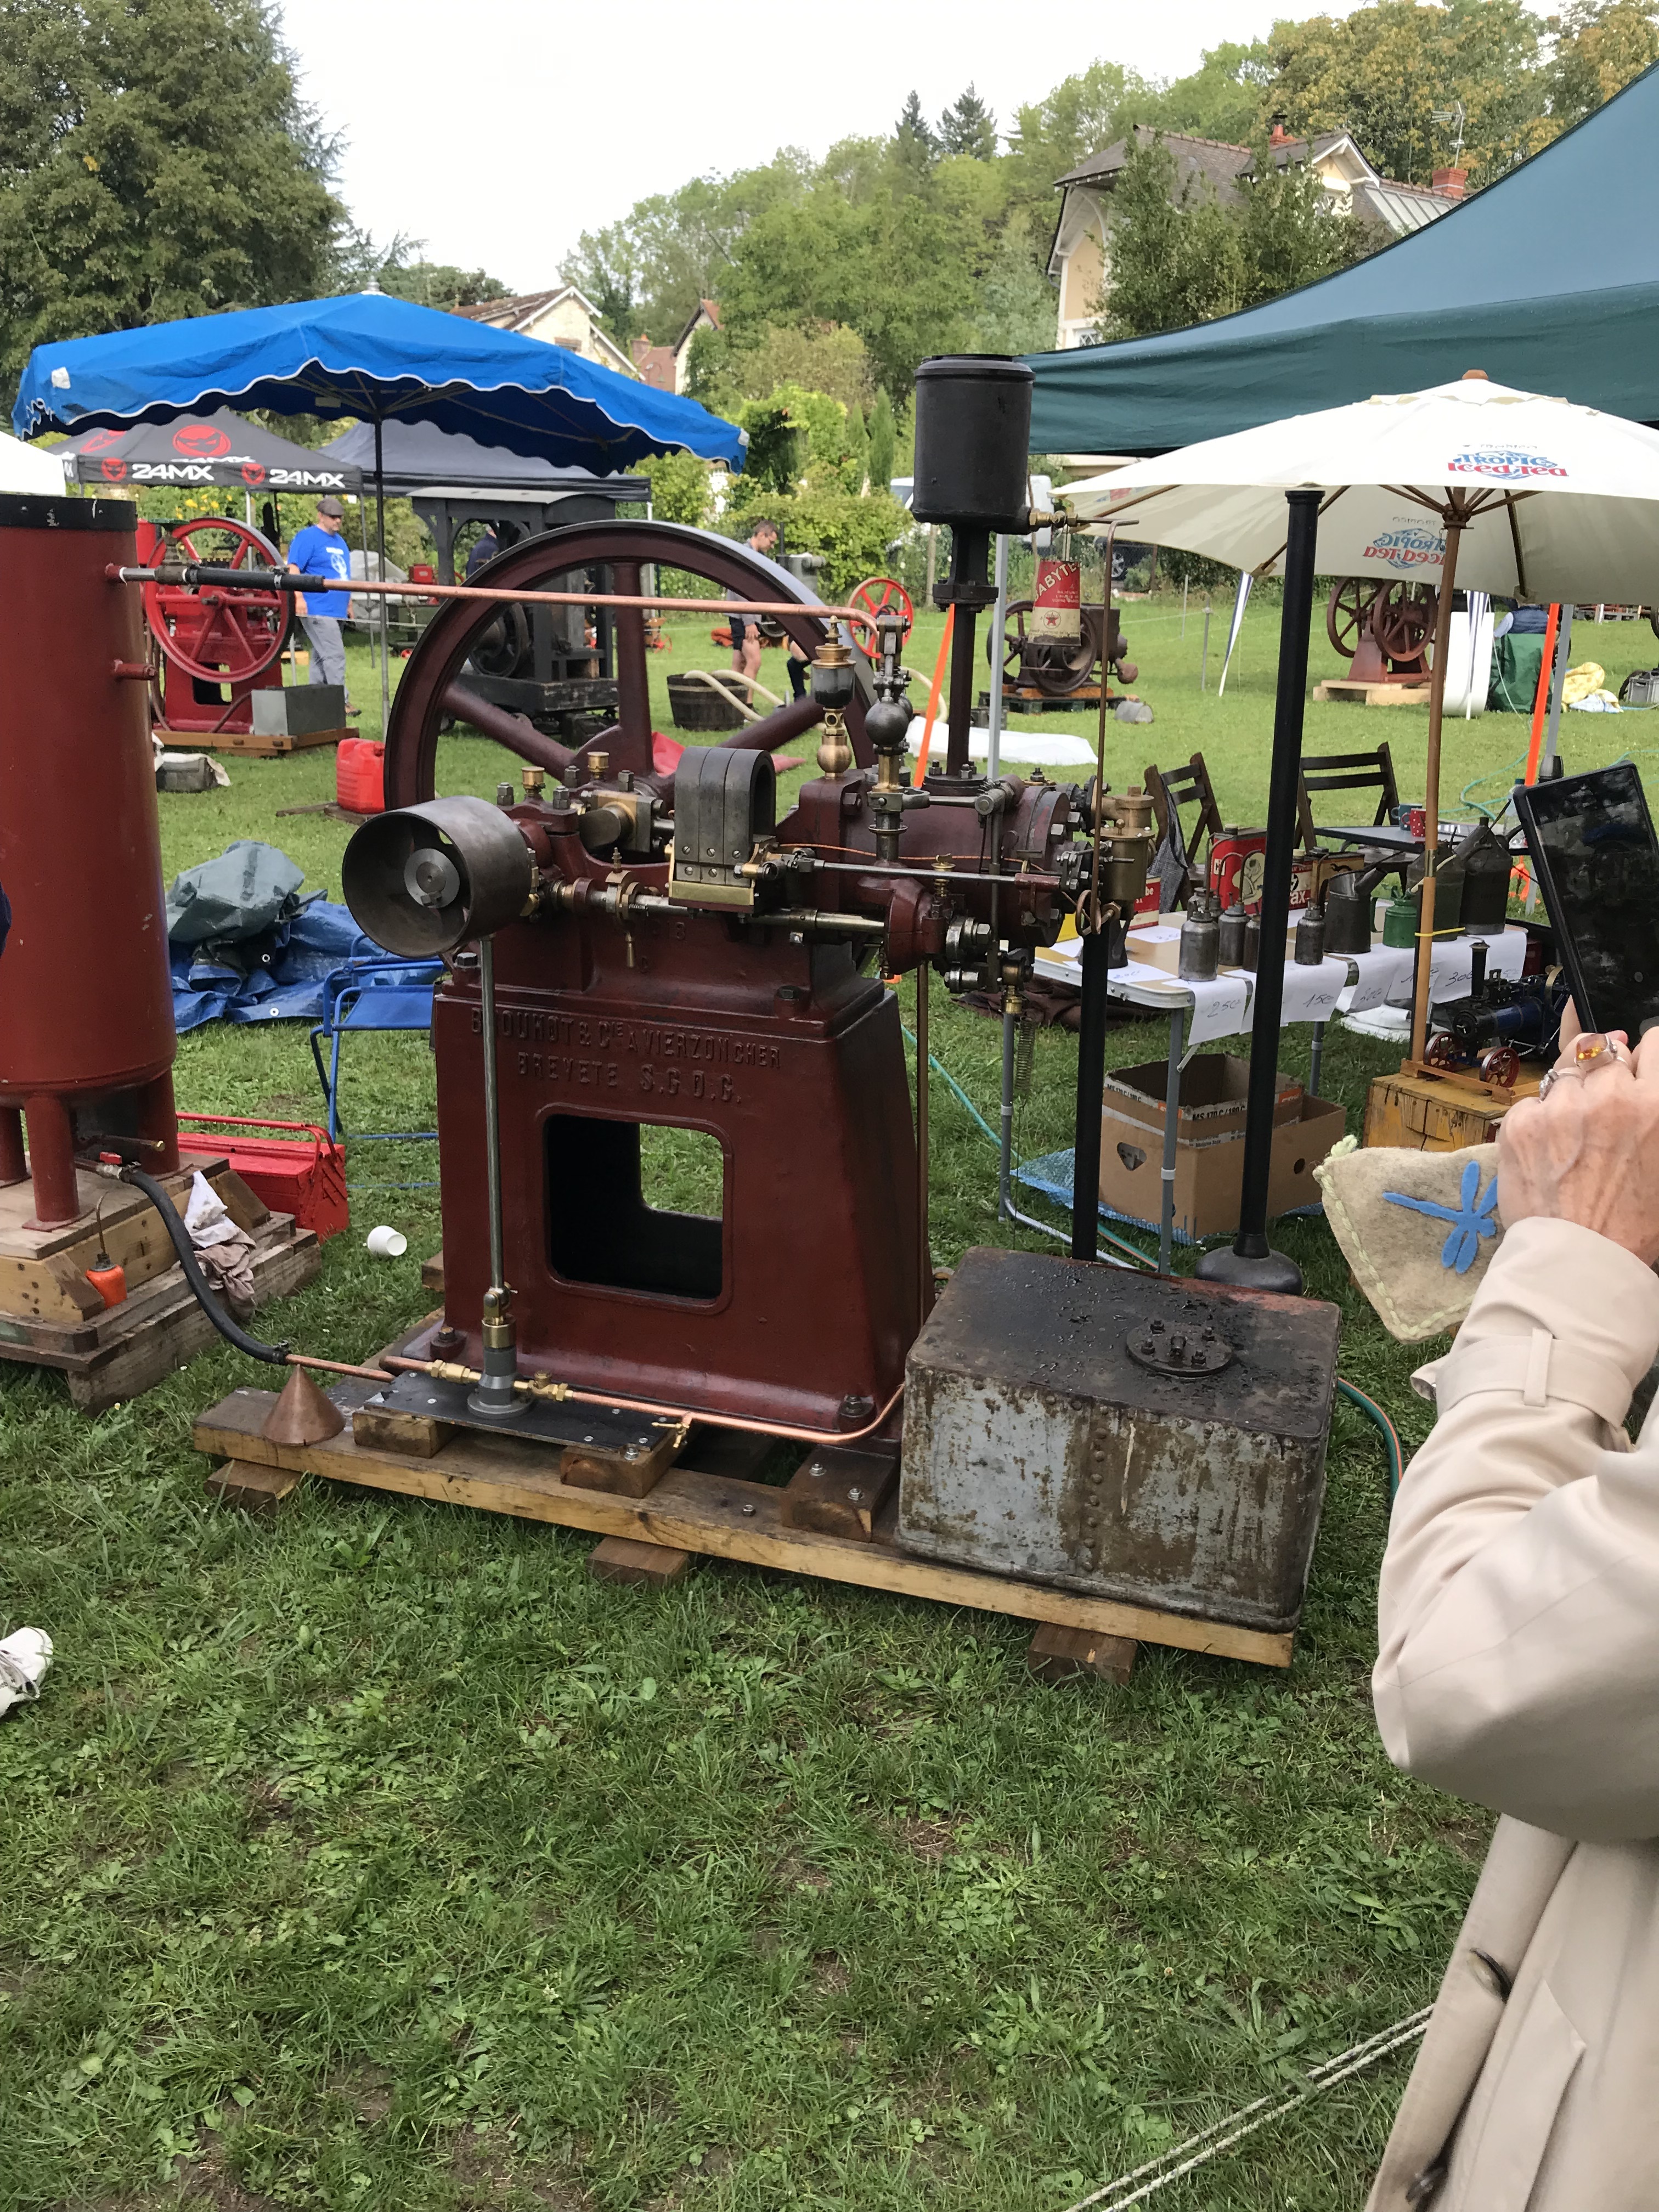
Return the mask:
[[(1197, 1066), (1199, 1062), (1192, 1062)], [(1347, 1117), (1329, 1099), (1298, 1093), (1296, 1110), (1274, 1128), (1267, 1214), (1318, 1203), (1314, 1168), (1340, 1141)], [(1164, 1208), (1164, 1130), (1128, 1115), (1102, 1115), (1099, 1194), (1119, 1214), (1157, 1228)], [(1243, 1128), (1175, 1144), (1177, 1237), (1228, 1237), (1239, 1228)]]

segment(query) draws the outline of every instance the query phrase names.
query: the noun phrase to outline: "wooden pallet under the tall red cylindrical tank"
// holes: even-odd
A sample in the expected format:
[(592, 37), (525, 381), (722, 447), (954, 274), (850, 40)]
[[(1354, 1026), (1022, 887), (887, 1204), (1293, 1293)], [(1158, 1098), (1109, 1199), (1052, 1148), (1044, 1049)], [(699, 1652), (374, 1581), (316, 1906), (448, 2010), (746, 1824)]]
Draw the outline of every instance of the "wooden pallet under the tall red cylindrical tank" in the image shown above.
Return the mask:
[[(323, 1265), (316, 1232), (299, 1228), (292, 1214), (265, 1212), (250, 1234), (257, 1305), (285, 1298)], [(0, 1314), (0, 1360), (55, 1367), (84, 1413), (137, 1398), (212, 1343), (217, 1332), (177, 1263), (75, 1325)]]

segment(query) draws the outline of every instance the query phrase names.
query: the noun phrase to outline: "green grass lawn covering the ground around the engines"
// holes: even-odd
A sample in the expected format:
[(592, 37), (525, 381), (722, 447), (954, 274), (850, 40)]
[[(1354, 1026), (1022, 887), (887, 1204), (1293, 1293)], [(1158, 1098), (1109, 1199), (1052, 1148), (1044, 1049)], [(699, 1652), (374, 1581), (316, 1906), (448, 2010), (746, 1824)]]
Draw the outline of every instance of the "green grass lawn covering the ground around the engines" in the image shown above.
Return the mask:
[[(1221, 701), (1197, 608), (1186, 637), (1179, 602), (1126, 628), (1157, 721), (1113, 726), (1113, 781), (1203, 745), (1261, 818), (1276, 611)], [(706, 628), (672, 635), (657, 684), (719, 666)], [(1657, 657), (1646, 626), (1584, 641), (1615, 684)], [(374, 730), (361, 655), (352, 677)], [(1646, 728), (1568, 717), (1566, 759)], [(1418, 712), (1310, 710), (1310, 745), (1378, 730), (1411, 792)], [(1522, 743), (1451, 726), (1449, 790)], [(440, 787), (491, 792), (500, 759), (447, 741)], [(332, 757), (230, 776), (161, 803), (168, 874), (265, 836), (338, 896), (343, 825), (279, 818)], [(995, 1024), (936, 993), (933, 1046), (991, 1113)], [(1113, 1031), (1115, 1064), (1159, 1053), (1161, 1024)], [(1073, 1064), (1035, 1037), (1022, 1152), (1066, 1141)], [(1325, 1088), (1354, 1115), (1387, 1064), (1334, 1031)], [(199, 1031), (177, 1077), (186, 1106), (316, 1110), (299, 1026)], [(352, 1128), (431, 1113), (418, 1040), (354, 1044)], [(268, 1334), (358, 1358), (416, 1316), (434, 1175), (429, 1146), (354, 1141), (354, 1232)], [(936, 1086), (940, 1261), (1000, 1241), (993, 1199)], [(363, 1252), (376, 1221), (405, 1261)], [(1413, 1356), (1321, 1223), (1279, 1234), (1343, 1305), (1343, 1371), (1418, 1440)], [(1128, 1688), (1053, 1690), (995, 1617), (719, 1564), (639, 1595), (591, 1582), (580, 1537), (347, 1491), (254, 1526), (204, 1502), (188, 1425), (261, 1380), (217, 1349), (84, 1420), (0, 1369), (0, 1626), (60, 1652), (0, 1725), (7, 2212), (1064, 2212), (1433, 1991), (1484, 1818), (1376, 1745), (1383, 1455), (1352, 1409), (1287, 1674), (1144, 1650)], [(1161, 2201), (1354, 2212), (1402, 2073)]]

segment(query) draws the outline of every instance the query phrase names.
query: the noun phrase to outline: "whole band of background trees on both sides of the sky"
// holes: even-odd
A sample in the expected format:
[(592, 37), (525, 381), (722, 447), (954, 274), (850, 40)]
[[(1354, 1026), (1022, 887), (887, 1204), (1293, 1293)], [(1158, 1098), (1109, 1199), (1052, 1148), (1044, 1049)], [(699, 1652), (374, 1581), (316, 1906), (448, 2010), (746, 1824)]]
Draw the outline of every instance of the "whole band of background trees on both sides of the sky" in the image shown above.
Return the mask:
[[(1217, 46), (1170, 84), (1102, 60), (1011, 117), (973, 86), (936, 122), (911, 95), (887, 135), (641, 199), (584, 234), (564, 276), (624, 345), (668, 343), (717, 299), (699, 394), (763, 409), (787, 387), (761, 445), (880, 482), (878, 394), (902, 416), (918, 361), (1053, 343), (1055, 179), (1135, 124), (1232, 144), (1274, 119), (1345, 126), (1385, 175), (1427, 181), (1455, 153), (1480, 188), (1655, 58), (1659, 0), (1573, 0), (1548, 22), (1522, 0), (1374, 0)], [(411, 241), (376, 248), (338, 197), (338, 150), (299, 95), (274, 0), (0, 0), (0, 374), (15, 380), (46, 338), (369, 274), (434, 307), (507, 290)], [(1117, 195), (1128, 252), (1108, 330), (1225, 312), (1367, 250), (1329, 217), (1316, 228), (1294, 177), (1214, 210), (1172, 204), (1159, 175), (1146, 157)], [(790, 392), (838, 398), (841, 431)]]

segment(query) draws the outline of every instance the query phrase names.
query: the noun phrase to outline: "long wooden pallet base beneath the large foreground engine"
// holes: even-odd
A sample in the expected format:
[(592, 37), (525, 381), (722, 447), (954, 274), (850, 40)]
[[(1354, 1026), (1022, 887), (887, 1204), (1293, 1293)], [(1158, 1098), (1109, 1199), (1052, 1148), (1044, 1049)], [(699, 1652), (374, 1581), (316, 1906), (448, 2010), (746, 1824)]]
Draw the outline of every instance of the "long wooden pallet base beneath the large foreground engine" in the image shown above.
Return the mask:
[[(363, 1407), (372, 1383), (347, 1380), (330, 1391), (345, 1413)], [(356, 1436), (347, 1425), (343, 1436), (321, 1444), (272, 1444), (263, 1429), (274, 1394), (239, 1389), (210, 1407), (192, 1427), (197, 1451), (212, 1460), (254, 1467), (276, 1467), (288, 1473), (321, 1475), (327, 1482), (356, 1482), (365, 1489), (398, 1491), (405, 1498), (434, 1498), (442, 1504), (478, 1506), (487, 1513), (515, 1513), (520, 1520), (551, 1522), (560, 1528), (586, 1528), (599, 1537), (622, 1537), (630, 1546), (657, 1546), (666, 1553), (706, 1553), (717, 1559), (741, 1559), (748, 1566), (781, 1568), (792, 1575), (816, 1575), (823, 1582), (849, 1582), (867, 1590), (889, 1590), (900, 1597), (931, 1597), (942, 1606), (969, 1606), (982, 1613), (1004, 1613), (1013, 1619), (1053, 1628), (1086, 1630), (1099, 1666), (1088, 1657), (1064, 1652), (1064, 1672), (1106, 1672), (1121, 1679), (1128, 1652), (1121, 1646), (1168, 1644), (1177, 1650), (1214, 1652), (1223, 1659), (1250, 1659), (1256, 1666), (1290, 1666), (1294, 1637), (1225, 1621), (1201, 1621), (1179, 1613), (1157, 1613), (1148, 1606), (1121, 1606), (1104, 1597), (1079, 1597), (1037, 1582), (982, 1575), (971, 1568), (940, 1566), (898, 1548), (894, 1537), (896, 1495), (887, 1495), (874, 1515), (867, 1537), (834, 1535), (823, 1528), (799, 1528), (785, 1522), (785, 1491), (770, 1482), (750, 1482), (730, 1473), (734, 1438), (719, 1431), (695, 1431), (679, 1464), (646, 1498), (619, 1498), (613, 1491), (588, 1491), (562, 1482), (557, 1455), (549, 1447), (509, 1436), (451, 1436), (431, 1455), (422, 1451), (385, 1449)], [(737, 1438), (752, 1447), (752, 1438)], [(852, 1458), (852, 1453), (847, 1453)], [(752, 1453), (750, 1453), (752, 1464)], [(863, 1489), (863, 1484), (858, 1484)], [(613, 1555), (615, 1557), (615, 1555)], [(624, 1555), (630, 1557), (630, 1555)], [(655, 1564), (655, 1562), (646, 1562)], [(604, 1573), (604, 1562), (595, 1573)], [(672, 1562), (661, 1562), (657, 1579), (672, 1579)]]

